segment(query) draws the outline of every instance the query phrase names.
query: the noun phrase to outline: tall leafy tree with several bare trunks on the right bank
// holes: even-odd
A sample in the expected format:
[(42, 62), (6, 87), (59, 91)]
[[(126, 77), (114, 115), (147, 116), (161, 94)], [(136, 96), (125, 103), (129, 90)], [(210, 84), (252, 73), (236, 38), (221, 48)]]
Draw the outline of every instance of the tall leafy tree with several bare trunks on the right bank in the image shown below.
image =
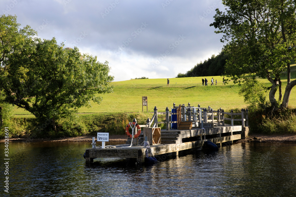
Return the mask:
[[(273, 110), (287, 108), (296, 80), (290, 80), (290, 61), (295, 58), (296, 6), (294, 0), (223, 0), (224, 12), (216, 9), (210, 24), (223, 33), (229, 55), (225, 71), (235, 83), (256, 77), (267, 78)], [(292, 47), (291, 47), (292, 46)], [(287, 86), (282, 96), (282, 76)], [(275, 98), (279, 91), (278, 100)]]

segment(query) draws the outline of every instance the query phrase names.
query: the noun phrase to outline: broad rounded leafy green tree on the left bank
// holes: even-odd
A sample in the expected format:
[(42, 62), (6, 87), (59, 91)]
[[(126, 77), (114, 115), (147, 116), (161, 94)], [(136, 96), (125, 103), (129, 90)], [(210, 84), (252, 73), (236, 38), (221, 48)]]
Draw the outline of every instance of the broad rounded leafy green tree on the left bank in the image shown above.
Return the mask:
[(39, 123), (47, 122), (47, 126), (55, 129), (57, 120), (90, 106), (91, 100), (100, 103), (102, 97), (98, 93), (112, 92), (109, 83), (113, 76), (109, 75), (108, 62), (100, 63), (96, 57), (81, 55), (78, 48), (63, 48), (54, 38), (40, 40), (33, 34), (22, 34), (24, 30), (18, 30), (15, 19), (7, 19), (7, 23), (14, 22), (14, 28), (3, 35), (22, 38), (7, 41), (11, 50), (1, 60), (0, 88), (5, 101), (29, 111)]

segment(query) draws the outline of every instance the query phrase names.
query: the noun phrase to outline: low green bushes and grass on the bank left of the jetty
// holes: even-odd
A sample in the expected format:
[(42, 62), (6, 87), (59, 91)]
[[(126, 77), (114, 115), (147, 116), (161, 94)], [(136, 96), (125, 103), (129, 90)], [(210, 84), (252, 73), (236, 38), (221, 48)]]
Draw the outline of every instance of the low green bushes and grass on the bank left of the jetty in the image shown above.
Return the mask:
[[(145, 125), (147, 118), (152, 118), (153, 113), (98, 113), (83, 114), (73, 117), (71, 120), (61, 120), (57, 122), (56, 131), (43, 132), (41, 127), (36, 128), (35, 118), (12, 118), (9, 127), (14, 132), (10, 132), (10, 137), (15, 135), (31, 136), (31, 138), (57, 138), (74, 137), (82, 135), (96, 135), (97, 132), (108, 132), (110, 135), (123, 135), (128, 122), (136, 118), (140, 125)], [(165, 115), (160, 115), (158, 121), (165, 121)], [(46, 124), (46, 123), (45, 123)], [(35, 125), (35, 126), (34, 126)], [(165, 124), (159, 124), (162, 129)], [(47, 133), (46, 135), (44, 133)], [(0, 130), (0, 138), (4, 138), (4, 130)]]

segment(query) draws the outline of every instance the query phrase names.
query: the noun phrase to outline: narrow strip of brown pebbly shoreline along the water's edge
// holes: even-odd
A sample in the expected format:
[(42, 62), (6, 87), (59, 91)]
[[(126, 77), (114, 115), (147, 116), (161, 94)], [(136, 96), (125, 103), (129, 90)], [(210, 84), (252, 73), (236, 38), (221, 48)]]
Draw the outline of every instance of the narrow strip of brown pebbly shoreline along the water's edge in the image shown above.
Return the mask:
[[(11, 142), (80, 142), (80, 141), (92, 141), (92, 137), (96, 136), (79, 136), (79, 137), (64, 137), (57, 139), (42, 138), (42, 139), (30, 139), (30, 138), (9, 138)], [(257, 138), (253, 142), (269, 142), (269, 143), (296, 143), (296, 134), (273, 134), (273, 135), (263, 135), (263, 134), (250, 134), (246, 139), (240, 139), (236, 143), (250, 142), (250, 139)], [(109, 141), (127, 141), (126, 135), (112, 135), (109, 136)], [(0, 142), (4, 142), (1, 139)]]

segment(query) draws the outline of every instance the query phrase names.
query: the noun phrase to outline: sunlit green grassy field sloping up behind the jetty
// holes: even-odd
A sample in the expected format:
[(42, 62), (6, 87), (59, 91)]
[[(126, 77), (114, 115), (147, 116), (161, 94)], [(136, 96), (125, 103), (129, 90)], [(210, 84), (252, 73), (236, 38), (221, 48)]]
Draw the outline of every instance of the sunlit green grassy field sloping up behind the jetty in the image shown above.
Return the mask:
[[(291, 66), (291, 79), (296, 77), (295, 69), (296, 64)], [(217, 85), (210, 85), (212, 77), (217, 79)], [(196, 107), (198, 104), (201, 107), (210, 105), (214, 110), (247, 107), (244, 98), (238, 95), (240, 89), (238, 85), (232, 82), (222, 85), (221, 76), (209, 76), (207, 79), (208, 86), (202, 86), (202, 77), (171, 78), (170, 87), (166, 86), (167, 79), (132, 79), (112, 82), (113, 93), (102, 95), (103, 101), (100, 105), (92, 103), (92, 108), (81, 108), (79, 113), (142, 112), (142, 96), (148, 97), (148, 112), (153, 112), (155, 106), (159, 111), (165, 111), (166, 107), (170, 109), (174, 102), (176, 105), (187, 105), (190, 102), (191, 106)], [(260, 81), (269, 83), (267, 79), (260, 79)], [(284, 91), (287, 77), (282, 81)], [(289, 106), (296, 107), (295, 88), (292, 89)], [(145, 111), (146, 107), (144, 107)], [(33, 117), (27, 111), (16, 107), (14, 114), (18, 117)]]

